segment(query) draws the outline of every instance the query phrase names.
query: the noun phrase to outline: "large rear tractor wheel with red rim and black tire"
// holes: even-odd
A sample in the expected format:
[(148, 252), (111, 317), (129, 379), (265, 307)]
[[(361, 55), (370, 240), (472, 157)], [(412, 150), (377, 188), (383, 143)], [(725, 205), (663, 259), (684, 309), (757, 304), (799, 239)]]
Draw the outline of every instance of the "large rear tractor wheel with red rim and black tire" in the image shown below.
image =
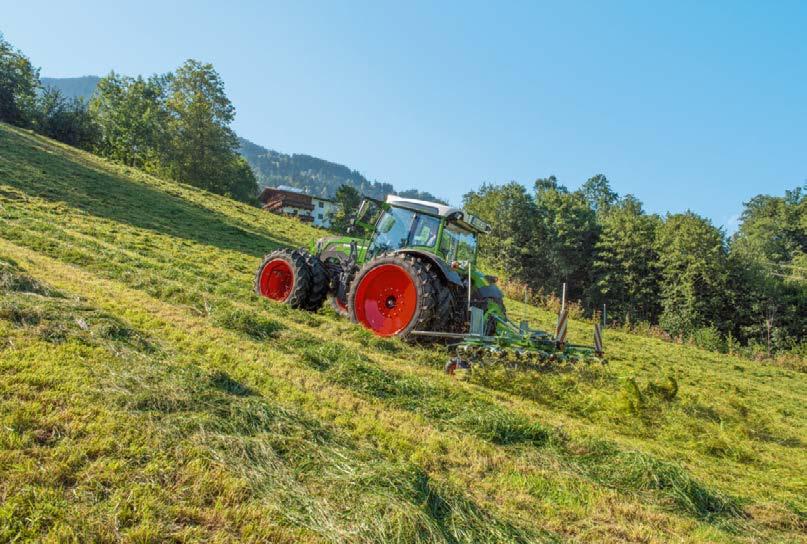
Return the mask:
[(429, 330), (437, 306), (436, 278), (411, 255), (383, 255), (365, 264), (351, 282), (348, 311), (379, 336)]

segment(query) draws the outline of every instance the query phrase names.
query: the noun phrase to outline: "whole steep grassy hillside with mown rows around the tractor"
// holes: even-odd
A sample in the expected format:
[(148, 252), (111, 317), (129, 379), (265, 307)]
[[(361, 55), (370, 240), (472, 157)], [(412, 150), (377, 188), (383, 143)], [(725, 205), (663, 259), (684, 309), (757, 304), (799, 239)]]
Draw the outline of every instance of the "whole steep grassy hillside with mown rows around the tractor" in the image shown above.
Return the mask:
[(804, 374), (608, 331), (452, 379), (252, 294), (318, 235), (0, 125), (0, 541), (807, 541)]

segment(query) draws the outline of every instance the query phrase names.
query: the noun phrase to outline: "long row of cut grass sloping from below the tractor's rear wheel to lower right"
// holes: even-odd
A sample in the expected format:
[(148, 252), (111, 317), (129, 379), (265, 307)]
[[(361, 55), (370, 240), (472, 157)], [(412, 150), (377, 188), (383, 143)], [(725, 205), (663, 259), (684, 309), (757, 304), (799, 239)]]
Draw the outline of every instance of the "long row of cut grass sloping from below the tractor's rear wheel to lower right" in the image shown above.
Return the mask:
[(301, 339), (302, 362), (326, 379), (393, 408), (417, 413), (438, 426), (473, 434), (497, 445), (548, 447), (570, 467), (620, 493), (655, 502), (726, 531), (746, 517), (741, 501), (699, 482), (687, 470), (650, 454), (624, 451), (608, 442), (570, 444), (556, 429), (502, 409), (460, 388), (429, 383), (382, 369), (336, 342)]

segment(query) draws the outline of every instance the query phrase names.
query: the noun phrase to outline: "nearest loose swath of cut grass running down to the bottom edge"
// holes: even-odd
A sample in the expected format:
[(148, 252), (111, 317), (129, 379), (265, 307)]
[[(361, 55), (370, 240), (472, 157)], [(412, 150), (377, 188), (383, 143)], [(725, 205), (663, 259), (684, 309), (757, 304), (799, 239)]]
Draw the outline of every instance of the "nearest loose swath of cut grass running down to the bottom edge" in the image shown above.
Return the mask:
[[(236, 391), (234, 391), (234, 389)], [(153, 365), (123, 373), (117, 403), (149, 412), (181, 443), (207, 451), (248, 482), (244, 497), (275, 501), (285, 521), (343, 542), (554, 542), (478, 504), (412, 463), (367, 449), (285, 409), (221, 370)], [(315, 480), (312, 493), (304, 482)], [(323, 508), (326, 500), (350, 509)]]

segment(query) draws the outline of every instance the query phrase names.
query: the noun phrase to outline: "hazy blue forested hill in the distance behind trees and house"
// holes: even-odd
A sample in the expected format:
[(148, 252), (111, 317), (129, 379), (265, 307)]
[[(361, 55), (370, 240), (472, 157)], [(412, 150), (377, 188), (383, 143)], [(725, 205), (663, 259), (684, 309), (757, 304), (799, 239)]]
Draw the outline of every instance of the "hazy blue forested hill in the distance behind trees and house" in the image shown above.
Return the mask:
[[(95, 91), (98, 76), (41, 79), (44, 87), (58, 89), (67, 98), (89, 98)], [(434, 195), (416, 189), (396, 192), (389, 183), (369, 181), (347, 166), (304, 154), (287, 155), (239, 138), (239, 152), (247, 160), (260, 186), (290, 185), (307, 192), (333, 197), (341, 185), (349, 185), (360, 193), (383, 199), (390, 193), (410, 198), (440, 201)]]

